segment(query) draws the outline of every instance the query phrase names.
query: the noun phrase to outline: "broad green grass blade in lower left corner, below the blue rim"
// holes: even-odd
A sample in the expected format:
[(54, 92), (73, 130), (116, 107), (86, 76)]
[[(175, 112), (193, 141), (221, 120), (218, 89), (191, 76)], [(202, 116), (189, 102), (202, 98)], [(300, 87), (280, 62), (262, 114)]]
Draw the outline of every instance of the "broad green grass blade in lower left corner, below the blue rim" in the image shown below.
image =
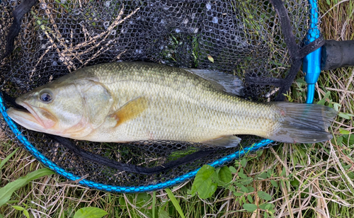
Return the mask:
[(23, 185), (28, 184), (30, 181), (35, 180), (37, 178), (40, 178), (42, 176), (47, 176), (47, 175), (52, 175), (54, 174), (53, 171), (51, 171), (48, 168), (41, 168), (37, 171), (33, 171), (32, 173), (28, 173), (26, 176), (23, 176), (21, 178), (18, 178), (17, 180), (14, 180), (11, 183), (8, 183), (5, 185), (3, 188), (0, 188), (0, 207), (8, 200), (10, 200), (11, 195), (21, 188)]

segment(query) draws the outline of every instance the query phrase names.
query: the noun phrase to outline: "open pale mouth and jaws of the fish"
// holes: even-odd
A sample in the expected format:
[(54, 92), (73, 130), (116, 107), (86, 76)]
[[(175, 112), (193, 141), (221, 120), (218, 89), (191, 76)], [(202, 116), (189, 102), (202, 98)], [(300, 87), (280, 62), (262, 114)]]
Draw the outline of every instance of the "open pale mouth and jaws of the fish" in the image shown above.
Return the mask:
[[(17, 102), (16, 102), (17, 103)], [(8, 108), (7, 114), (11, 119), (17, 122), (19, 125), (29, 129), (42, 132), (45, 129), (49, 129), (50, 127), (54, 126), (57, 122), (57, 119), (47, 110), (44, 108), (36, 108), (37, 110), (45, 116), (45, 122), (40, 118), (38, 113), (36, 113), (33, 108), (28, 105), (28, 103), (18, 103), (18, 105), (23, 106), (26, 110), (23, 109), (15, 109), (15, 108)]]

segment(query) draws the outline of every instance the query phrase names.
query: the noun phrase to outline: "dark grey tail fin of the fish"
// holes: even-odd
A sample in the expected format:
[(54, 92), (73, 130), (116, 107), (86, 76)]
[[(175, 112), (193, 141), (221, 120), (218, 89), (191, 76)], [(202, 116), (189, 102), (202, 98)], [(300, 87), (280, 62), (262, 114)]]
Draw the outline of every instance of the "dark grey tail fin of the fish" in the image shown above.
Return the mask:
[(325, 130), (337, 115), (336, 110), (324, 105), (275, 102), (280, 108), (280, 125), (268, 139), (276, 142), (315, 143), (332, 138)]

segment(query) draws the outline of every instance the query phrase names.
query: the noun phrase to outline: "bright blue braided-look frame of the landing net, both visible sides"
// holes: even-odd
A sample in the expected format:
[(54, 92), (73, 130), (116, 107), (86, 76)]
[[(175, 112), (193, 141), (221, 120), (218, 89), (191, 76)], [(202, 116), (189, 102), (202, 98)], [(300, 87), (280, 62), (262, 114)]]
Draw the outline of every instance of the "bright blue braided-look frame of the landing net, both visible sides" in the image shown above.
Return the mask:
[[(311, 14), (310, 16), (310, 23), (311, 23), (311, 28), (309, 29), (307, 33), (307, 44), (310, 42), (314, 42), (317, 38), (320, 37), (320, 32), (319, 28), (317, 26), (318, 23), (318, 6), (315, 1), (309, 0), (309, 4), (312, 6), (312, 10), (310, 10)], [(309, 80), (316, 80), (316, 75), (318, 74), (318, 67), (316, 64), (312, 65), (310, 63), (313, 62), (319, 62), (321, 59), (320, 57), (321, 50), (316, 50), (310, 54), (307, 55), (307, 57), (304, 59), (304, 69), (306, 69), (307, 72), (307, 78), (310, 78)], [(306, 62), (306, 63), (305, 63)], [(313, 99), (313, 94), (311, 90), (309, 90), (308, 93), (308, 102), (307, 103), (312, 103)], [(312, 98), (311, 98), (312, 96)], [(159, 190), (162, 188), (169, 188), (173, 185), (177, 185), (178, 183), (183, 183), (186, 180), (190, 180), (193, 178), (196, 173), (198, 172), (199, 168), (195, 169), (194, 171), (190, 171), (189, 173), (185, 173), (183, 176), (178, 176), (176, 178), (173, 178), (171, 180), (167, 180), (166, 182), (163, 183), (157, 183), (157, 184), (152, 184), (152, 185), (140, 185), (140, 186), (115, 186), (115, 185), (107, 185), (107, 184), (102, 184), (102, 183), (96, 183), (91, 180), (86, 180), (85, 178), (81, 178), (80, 176), (76, 176), (73, 173), (69, 173), (65, 171), (64, 168), (61, 168), (60, 166), (57, 166), (55, 163), (50, 161), (50, 159), (47, 159), (47, 157), (43, 156), (38, 149), (36, 149), (33, 144), (31, 144), (28, 139), (21, 133), (21, 130), (18, 129), (17, 125), (8, 117), (6, 113), (6, 105), (4, 103), (4, 98), (3, 96), (0, 95), (0, 112), (4, 117), (4, 120), (6, 121), (8, 127), (10, 127), (11, 131), (15, 136), (18, 138), (18, 140), (25, 146), (25, 149), (30, 151), (33, 156), (35, 156), (36, 159), (41, 161), (45, 166), (48, 168), (52, 169), (53, 171), (56, 171), (59, 175), (64, 176), (65, 178), (68, 178), (69, 180), (79, 180), (79, 184), (81, 185), (86, 185), (89, 188), (94, 188), (97, 190), (105, 190), (109, 192), (118, 192), (118, 193), (139, 193), (139, 192), (149, 192), (152, 190)], [(261, 140), (260, 142), (256, 144), (251, 144), (247, 147), (244, 147), (240, 151), (236, 151), (233, 154), (229, 154), (227, 156), (224, 156), (221, 159), (217, 159), (216, 161), (212, 162), (210, 164), (211, 166), (214, 167), (219, 167), (224, 164), (229, 163), (230, 161), (234, 161), (234, 159), (238, 159), (241, 156), (244, 156), (245, 154), (253, 151), (258, 151), (259, 149), (265, 149), (266, 147), (269, 147), (270, 144), (272, 144), (273, 141), (269, 139), (264, 139)]]

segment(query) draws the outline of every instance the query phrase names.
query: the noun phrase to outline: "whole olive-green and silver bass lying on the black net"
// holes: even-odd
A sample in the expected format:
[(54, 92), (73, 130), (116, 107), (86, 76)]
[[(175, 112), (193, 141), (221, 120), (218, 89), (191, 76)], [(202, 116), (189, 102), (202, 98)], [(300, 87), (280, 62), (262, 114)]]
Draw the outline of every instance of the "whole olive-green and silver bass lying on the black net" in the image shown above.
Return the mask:
[[(16, 98), (23, 127), (91, 142), (171, 140), (236, 147), (236, 135), (314, 143), (337, 112), (324, 105), (259, 103), (237, 95), (237, 79), (204, 69), (110, 62), (73, 71)], [(238, 90), (239, 91), (239, 90)]]

